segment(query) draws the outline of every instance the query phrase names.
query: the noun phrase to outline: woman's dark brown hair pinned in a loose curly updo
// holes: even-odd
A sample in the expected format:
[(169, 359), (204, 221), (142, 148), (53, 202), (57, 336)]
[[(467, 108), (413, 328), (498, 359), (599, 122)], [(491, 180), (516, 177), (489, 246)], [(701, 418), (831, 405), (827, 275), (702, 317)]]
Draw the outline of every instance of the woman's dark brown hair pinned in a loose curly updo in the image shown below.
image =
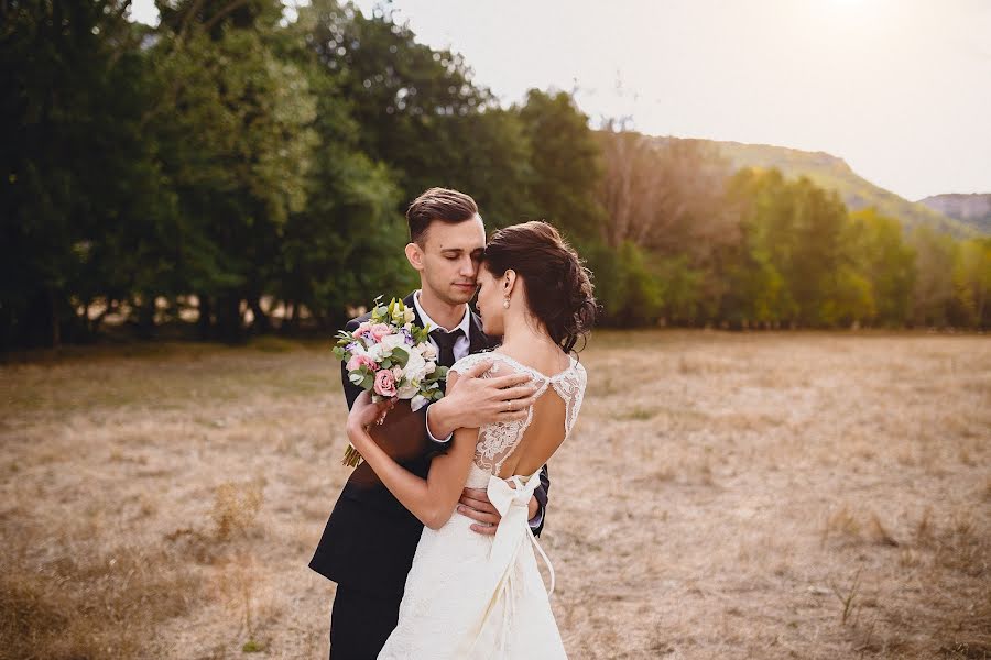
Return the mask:
[(500, 229), (482, 263), (497, 279), (509, 270), (523, 278), (527, 309), (565, 353), (591, 330), (598, 311), (591, 273), (552, 226), (532, 220)]

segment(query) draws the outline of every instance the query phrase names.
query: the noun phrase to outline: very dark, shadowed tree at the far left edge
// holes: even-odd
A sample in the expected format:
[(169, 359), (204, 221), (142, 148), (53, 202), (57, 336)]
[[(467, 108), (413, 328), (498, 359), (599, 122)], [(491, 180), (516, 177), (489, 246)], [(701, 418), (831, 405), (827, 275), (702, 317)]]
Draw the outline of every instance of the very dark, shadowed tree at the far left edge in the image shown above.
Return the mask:
[[(128, 2), (28, 0), (0, 28), (0, 345), (86, 339), (110, 301), (165, 276), (174, 199), (140, 120), (148, 70)], [(81, 308), (81, 312), (79, 311)]]

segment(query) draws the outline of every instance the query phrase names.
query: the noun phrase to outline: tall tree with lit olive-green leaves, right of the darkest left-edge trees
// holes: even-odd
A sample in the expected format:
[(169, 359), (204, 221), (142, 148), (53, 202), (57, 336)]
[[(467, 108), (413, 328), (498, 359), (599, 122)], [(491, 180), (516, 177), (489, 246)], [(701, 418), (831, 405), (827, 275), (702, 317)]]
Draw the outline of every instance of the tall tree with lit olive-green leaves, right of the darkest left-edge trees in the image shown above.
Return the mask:
[(276, 52), (281, 7), (235, 4), (163, 13), (149, 54), (162, 92), (146, 117), (178, 198), (181, 286), (199, 299), (203, 334), (229, 341), (244, 336), (246, 306), (266, 324), (259, 300), (318, 140), (308, 80)]

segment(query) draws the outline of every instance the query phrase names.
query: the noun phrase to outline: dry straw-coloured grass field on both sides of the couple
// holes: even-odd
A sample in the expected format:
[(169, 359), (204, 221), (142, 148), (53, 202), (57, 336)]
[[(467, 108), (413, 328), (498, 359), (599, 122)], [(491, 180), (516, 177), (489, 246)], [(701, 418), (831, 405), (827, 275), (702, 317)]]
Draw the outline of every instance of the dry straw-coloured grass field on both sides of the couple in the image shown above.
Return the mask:
[[(0, 658), (325, 658), (326, 343), (0, 366)], [(597, 333), (542, 543), (574, 658), (991, 657), (991, 341)]]

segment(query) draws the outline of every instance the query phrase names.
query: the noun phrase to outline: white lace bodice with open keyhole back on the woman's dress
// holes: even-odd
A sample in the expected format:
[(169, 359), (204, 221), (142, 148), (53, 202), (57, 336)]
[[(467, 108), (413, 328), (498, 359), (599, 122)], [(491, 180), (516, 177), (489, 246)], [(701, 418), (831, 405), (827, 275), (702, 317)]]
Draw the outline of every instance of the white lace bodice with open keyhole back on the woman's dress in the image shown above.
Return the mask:
[[(526, 435), (526, 430), (533, 424), (534, 408), (537, 406), (564, 406), (564, 440), (571, 432), (578, 410), (585, 396), (586, 373), (585, 367), (573, 362), (570, 367), (551, 378), (516, 363), (500, 353), (476, 353), (468, 355), (451, 367), (461, 372), (470, 369), (483, 360), (494, 360), (492, 369), (482, 374), (483, 378), (505, 375), (507, 370), (529, 373), (531, 383), (536, 385), (535, 404), (526, 410), (526, 418), (518, 421), (496, 422), (481, 427), (478, 430), (478, 444), (475, 449), (475, 464), (490, 474), (499, 474), (503, 463), (509, 459)], [(548, 388), (559, 397), (558, 402), (544, 400)], [(545, 396), (546, 395), (546, 396)], [(557, 398), (555, 397), (555, 398)]]

